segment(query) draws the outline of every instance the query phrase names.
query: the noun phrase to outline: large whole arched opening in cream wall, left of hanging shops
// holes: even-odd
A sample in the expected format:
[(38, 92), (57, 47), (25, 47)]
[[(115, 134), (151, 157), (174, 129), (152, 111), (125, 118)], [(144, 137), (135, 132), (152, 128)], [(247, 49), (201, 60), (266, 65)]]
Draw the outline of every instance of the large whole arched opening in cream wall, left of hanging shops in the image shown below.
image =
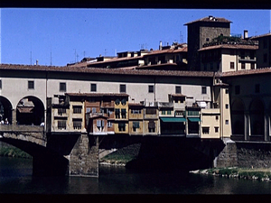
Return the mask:
[(38, 97), (23, 97), (16, 106), (18, 125), (41, 125), (44, 122), (44, 105)]

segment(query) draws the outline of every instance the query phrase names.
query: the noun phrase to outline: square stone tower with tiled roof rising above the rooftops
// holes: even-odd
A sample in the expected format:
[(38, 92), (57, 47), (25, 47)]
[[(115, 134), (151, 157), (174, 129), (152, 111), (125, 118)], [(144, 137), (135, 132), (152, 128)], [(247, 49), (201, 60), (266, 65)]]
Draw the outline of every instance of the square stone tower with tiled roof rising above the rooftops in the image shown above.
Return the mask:
[(200, 70), (201, 62), (198, 50), (202, 45), (220, 35), (229, 36), (230, 34), (230, 21), (225, 18), (217, 18), (208, 16), (187, 25), (187, 43), (188, 43), (188, 69)]

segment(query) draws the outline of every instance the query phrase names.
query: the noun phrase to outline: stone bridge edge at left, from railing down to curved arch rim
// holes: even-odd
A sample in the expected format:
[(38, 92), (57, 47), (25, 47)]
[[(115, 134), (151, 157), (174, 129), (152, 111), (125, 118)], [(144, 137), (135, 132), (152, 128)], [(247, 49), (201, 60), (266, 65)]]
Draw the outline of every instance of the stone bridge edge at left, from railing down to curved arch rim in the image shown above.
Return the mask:
[(22, 140), (46, 146), (43, 126), (37, 125), (0, 125), (1, 138)]

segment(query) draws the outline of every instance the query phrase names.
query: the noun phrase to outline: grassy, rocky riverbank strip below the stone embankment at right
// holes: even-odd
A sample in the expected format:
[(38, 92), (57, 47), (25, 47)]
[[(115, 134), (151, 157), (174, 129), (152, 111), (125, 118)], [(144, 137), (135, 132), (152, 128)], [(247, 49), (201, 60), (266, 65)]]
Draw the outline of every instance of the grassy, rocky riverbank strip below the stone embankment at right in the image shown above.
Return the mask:
[(226, 178), (271, 181), (271, 169), (221, 168), (190, 171), (191, 173), (221, 176)]

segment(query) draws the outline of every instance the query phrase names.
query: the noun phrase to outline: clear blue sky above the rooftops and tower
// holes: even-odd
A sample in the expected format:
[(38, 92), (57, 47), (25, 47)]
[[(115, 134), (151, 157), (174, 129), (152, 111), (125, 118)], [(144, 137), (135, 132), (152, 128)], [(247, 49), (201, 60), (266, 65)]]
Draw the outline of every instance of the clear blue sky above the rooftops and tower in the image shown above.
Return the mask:
[(187, 42), (187, 26), (213, 15), (231, 21), (231, 33), (271, 30), (270, 10), (207, 9), (1, 9), (1, 63), (65, 66), (84, 57), (158, 49)]

